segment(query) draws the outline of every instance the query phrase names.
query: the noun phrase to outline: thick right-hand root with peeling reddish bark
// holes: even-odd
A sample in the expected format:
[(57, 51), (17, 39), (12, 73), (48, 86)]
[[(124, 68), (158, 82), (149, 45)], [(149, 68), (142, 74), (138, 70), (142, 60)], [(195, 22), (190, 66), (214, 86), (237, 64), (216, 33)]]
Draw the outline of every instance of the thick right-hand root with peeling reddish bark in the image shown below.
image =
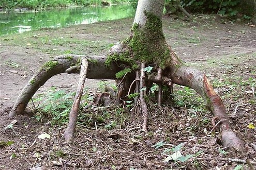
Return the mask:
[(236, 137), (231, 129), (222, 100), (214, 91), (205, 74), (187, 66), (180, 66), (171, 68), (170, 77), (174, 83), (192, 88), (202, 96), (207, 108), (221, 121), (218, 127), (224, 147), (243, 149), (244, 142)]

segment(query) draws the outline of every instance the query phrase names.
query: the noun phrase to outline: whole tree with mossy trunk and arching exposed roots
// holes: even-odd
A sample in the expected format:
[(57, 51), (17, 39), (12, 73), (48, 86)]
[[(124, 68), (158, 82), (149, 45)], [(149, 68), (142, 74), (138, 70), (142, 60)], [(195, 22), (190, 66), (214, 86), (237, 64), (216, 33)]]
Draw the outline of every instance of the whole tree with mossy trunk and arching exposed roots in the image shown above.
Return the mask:
[[(164, 0), (140, 0), (130, 37), (114, 45), (106, 60), (104, 57), (94, 57), (94, 61), (87, 59), (89, 69), (87, 77), (95, 79), (116, 77), (119, 81), (117, 103), (125, 104), (125, 100), (132, 95), (135, 108), (140, 108), (138, 110), (143, 115), (142, 129), (145, 132), (147, 132), (148, 116), (147, 95), (152, 83), (159, 85), (157, 96), (159, 106), (161, 106), (163, 86), (172, 89), (172, 84), (176, 83), (190, 87), (203, 97), (207, 108), (215, 116), (214, 120), (218, 120), (214, 128), (219, 130), (223, 146), (242, 149), (244, 143), (232, 131), (222, 100), (214, 92), (206, 76), (184, 66), (165, 42), (161, 21), (163, 6)], [(95, 60), (97, 60), (97, 64), (95, 64)], [(40, 69), (32, 78), (33, 81), (28, 82), (14, 104), (9, 114), (10, 117), (23, 114), (28, 100), (51, 76), (65, 71), (74, 73), (79, 70), (76, 63), (79, 63), (80, 59), (77, 56), (71, 56), (71, 58), (69, 56), (62, 60), (56, 58), (55, 61), (57, 64), (52, 65), (50, 70)], [(61, 71), (56, 68), (61, 68)]]

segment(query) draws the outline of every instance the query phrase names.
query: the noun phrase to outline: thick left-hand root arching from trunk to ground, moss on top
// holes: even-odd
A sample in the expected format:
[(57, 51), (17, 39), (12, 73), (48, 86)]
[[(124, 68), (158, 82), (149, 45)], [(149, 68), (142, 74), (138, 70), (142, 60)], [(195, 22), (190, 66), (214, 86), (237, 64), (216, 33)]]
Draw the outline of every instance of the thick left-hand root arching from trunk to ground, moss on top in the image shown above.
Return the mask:
[(44, 63), (40, 69), (34, 74), (34, 76), (27, 82), (19, 94), (14, 106), (12, 107), (9, 117), (14, 117), (17, 114), (24, 114), (26, 106), (37, 92), (37, 90), (43, 86), (51, 77), (61, 73), (79, 73), (81, 58), (87, 58), (88, 60), (88, 72), (87, 78), (92, 79), (115, 79), (115, 73), (118, 71), (118, 67), (114, 64), (111, 65), (111, 69), (107, 69), (104, 62), (106, 56), (79, 56), (79, 55), (64, 55), (56, 57), (55, 59)]

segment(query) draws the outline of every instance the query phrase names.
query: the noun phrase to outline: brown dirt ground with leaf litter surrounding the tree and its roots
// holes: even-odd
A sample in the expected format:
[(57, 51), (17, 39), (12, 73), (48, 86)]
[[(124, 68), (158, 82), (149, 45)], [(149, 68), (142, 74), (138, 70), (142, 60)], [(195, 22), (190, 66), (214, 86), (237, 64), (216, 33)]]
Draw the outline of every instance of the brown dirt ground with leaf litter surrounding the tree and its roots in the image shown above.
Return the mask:
[[(200, 101), (195, 101), (195, 95), (188, 95), (189, 105), (184, 107), (152, 109), (148, 135), (141, 131), (142, 116), (126, 110), (122, 112), (126, 117), (122, 126), (109, 130), (107, 122), (80, 125), (76, 137), (69, 142), (62, 137), (66, 125), (52, 126), (50, 119), (37, 121), (19, 115), (14, 118), (18, 122), (8, 126), (14, 120), (8, 118), (11, 107), (40, 65), (70, 52), (105, 55), (111, 44), (129, 36), (131, 25), (132, 19), (124, 19), (1, 37), (0, 169), (249, 169), (243, 161), (256, 162), (256, 130), (248, 127), (256, 127), (256, 28), (214, 15), (197, 16), (186, 22), (163, 18), (163, 30), (175, 53), (213, 82), (246, 150), (230, 151), (221, 146), (218, 133), (209, 133), (213, 128), (212, 114), (199, 109)], [(76, 91), (78, 77), (57, 75), (37, 94), (49, 93), (51, 87)], [(86, 80), (88, 93), (101, 81)], [(174, 89), (176, 94), (184, 92), (182, 87)], [(115, 120), (118, 109), (107, 111), (113, 113), (111, 118)], [(51, 138), (38, 139), (41, 133), (50, 134)], [(158, 143), (161, 141), (164, 143)], [(153, 147), (157, 143), (159, 148)], [(184, 146), (175, 150), (179, 144)], [(177, 150), (191, 158), (184, 162), (165, 160)]]

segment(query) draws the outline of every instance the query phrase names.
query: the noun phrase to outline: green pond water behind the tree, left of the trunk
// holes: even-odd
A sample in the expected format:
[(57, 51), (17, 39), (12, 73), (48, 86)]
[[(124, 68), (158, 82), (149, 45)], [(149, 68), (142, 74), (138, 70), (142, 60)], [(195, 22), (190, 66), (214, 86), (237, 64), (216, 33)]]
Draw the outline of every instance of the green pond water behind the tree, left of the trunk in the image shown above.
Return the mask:
[(76, 24), (91, 24), (98, 21), (131, 18), (134, 14), (135, 9), (129, 5), (62, 8), (36, 13), (0, 13), (0, 36), (40, 28), (65, 27)]

